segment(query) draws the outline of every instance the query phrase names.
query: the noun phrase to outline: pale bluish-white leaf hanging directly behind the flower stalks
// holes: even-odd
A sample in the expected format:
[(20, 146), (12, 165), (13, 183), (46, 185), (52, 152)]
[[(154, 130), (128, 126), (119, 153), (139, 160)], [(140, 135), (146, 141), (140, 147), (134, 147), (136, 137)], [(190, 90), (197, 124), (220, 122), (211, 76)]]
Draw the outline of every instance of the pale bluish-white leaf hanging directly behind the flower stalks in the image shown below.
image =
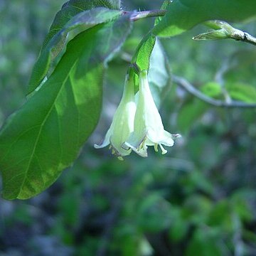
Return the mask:
[(156, 39), (154, 49), (150, 57), (149, 85), (154, 101), (159, 107), (170, 89), (171, 77), (169, 63), (159, 39)]

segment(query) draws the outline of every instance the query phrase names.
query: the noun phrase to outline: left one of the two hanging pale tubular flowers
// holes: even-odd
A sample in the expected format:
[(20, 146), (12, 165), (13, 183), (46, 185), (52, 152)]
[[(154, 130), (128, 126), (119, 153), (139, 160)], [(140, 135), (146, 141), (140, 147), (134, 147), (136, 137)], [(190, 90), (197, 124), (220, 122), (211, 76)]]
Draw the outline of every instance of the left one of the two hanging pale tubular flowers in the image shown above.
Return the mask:
[(112, 154), (117, 155), (118, 159), (122, 160), (122, 156), (129, 155), (132, 150), (124, 149), (122, 144), (124, 144), (129, 135), (133, 132), (135, 112), (134, 85), (127, 75), (122, 99), (114, 113), (110, 129), (108, 129), (102, 144), (95, 144), (95, 148), (101, 149), (110, 144)]

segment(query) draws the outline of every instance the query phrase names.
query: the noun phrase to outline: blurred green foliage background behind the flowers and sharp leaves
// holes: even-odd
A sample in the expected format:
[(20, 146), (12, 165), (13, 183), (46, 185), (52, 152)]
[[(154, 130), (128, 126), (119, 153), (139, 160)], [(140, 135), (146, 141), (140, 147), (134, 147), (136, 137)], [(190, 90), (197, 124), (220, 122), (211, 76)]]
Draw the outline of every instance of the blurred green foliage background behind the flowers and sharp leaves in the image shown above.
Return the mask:
[[(31, 68), (63, 3), (0, 0), (0, 126), (26, 100)], [(128, 10), (160, 6), (123, 1)], [(256, 255), (255, 109), (216, 108), (169, 82), (160, 112), (166, 130), (183, 138), (168, 154), (119, 161), (93, 148), (122, 95), (127, 60), (153, 23), (134, 23), (109, 64), (102, 118), (75, 164), (31, 200), (0, 198), (1, 256)], [(256, 35), (255, 23), (236, 27)], [(205, 31), (162, 41), (171, 72), (210, 97), (223, 100), (225, 91), (256, 102), (255, 46), (191, 40)]]

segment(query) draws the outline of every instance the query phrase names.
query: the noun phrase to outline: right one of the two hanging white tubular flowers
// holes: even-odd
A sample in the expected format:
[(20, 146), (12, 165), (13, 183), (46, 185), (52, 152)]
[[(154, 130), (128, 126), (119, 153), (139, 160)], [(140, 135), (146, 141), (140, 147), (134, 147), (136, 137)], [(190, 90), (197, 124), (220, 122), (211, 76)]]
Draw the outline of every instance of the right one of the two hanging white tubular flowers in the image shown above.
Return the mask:
[(147, 146), (154, 146), (158, 151), (160, 146), (162, 154), (167, 151), (164, 146), (173, 146), (174, 139), (179, 134), (170, 134), (164, 130), (159, 111), (149, 89), (147, 71), (142, 70), (139, 75), (139, 98), (137, 111), (134, 118), (134, 132), (129, 136), (125, 144), (126, 149), (133, 149), (140, 156), (147, 156)]

